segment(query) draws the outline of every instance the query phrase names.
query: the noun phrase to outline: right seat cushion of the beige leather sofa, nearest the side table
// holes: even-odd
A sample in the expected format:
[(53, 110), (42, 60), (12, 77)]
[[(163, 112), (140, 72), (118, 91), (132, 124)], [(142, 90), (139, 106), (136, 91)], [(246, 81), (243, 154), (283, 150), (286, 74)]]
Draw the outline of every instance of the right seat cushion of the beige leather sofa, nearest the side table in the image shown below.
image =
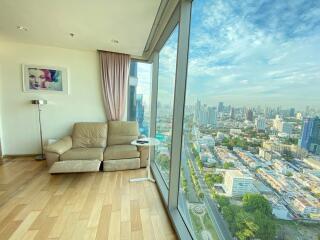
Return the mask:
[(126, 159), (126, 158), (138, 158), (140, 153), (136, 146), (133, 145), (113, 145), (108, 146), (103, 154), (103, 159), (116, 160), (116, 159)]

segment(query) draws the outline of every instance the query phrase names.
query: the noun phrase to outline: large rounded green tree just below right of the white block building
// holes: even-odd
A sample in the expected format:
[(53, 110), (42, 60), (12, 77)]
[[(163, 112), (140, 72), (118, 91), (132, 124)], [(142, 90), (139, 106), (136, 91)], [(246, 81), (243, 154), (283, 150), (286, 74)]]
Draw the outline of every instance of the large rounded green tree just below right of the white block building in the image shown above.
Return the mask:
[(261, 194), (246, 193), (242, 198), (242, 203), (244, 210), (247, 212), (260, 211), (268, 217), (272, 216), (272, 207)]

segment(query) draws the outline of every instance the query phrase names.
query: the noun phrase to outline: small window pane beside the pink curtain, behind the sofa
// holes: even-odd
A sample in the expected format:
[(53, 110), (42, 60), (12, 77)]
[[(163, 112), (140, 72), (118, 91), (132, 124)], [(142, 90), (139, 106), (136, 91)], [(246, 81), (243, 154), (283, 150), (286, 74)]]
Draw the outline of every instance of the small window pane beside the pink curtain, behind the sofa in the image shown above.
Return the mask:
[(149, 63), (131, 61), (130, 64), (128, 120), (137, 121), (144, 136), (149, 136), (151, 68)]

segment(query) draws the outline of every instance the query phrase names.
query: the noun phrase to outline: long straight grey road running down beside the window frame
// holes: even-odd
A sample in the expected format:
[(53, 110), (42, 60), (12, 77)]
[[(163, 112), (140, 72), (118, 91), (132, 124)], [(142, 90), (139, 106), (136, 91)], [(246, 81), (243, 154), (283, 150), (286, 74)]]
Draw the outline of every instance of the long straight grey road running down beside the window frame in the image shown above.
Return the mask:
[(208, 210), (208, 214), (210, 218), (213, 220), (214, 226), (216, 228), (219, 239), (221, 240), (232, 240), (232, 235), (228, 229), (227, 224), (225, 223), (223, 217), (221, 216), (218, 206), (214, 200), (211, 198), (210, 191), (204, 182), (203, 175), (201, 174), (198, 165), (196, 164), (193, 153), (191, 153), (190, 148), (188, 146), (187, 139), (184, 138), (184, 151), (185, 154), (182, 154), (182, 162), (186, 162), (187, 159), (191, 159), (195, 172), (199, 179), (199, 184), (204, 193), (204, 204)]

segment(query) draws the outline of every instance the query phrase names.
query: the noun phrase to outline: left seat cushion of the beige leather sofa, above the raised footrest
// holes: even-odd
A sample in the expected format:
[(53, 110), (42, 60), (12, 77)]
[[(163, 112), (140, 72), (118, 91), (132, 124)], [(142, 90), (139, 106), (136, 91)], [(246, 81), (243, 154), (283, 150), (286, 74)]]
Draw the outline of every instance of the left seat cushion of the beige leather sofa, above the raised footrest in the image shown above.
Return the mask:
[(103, 160), (104, 148), (71, 148), (60, 156), (65, 160)]

